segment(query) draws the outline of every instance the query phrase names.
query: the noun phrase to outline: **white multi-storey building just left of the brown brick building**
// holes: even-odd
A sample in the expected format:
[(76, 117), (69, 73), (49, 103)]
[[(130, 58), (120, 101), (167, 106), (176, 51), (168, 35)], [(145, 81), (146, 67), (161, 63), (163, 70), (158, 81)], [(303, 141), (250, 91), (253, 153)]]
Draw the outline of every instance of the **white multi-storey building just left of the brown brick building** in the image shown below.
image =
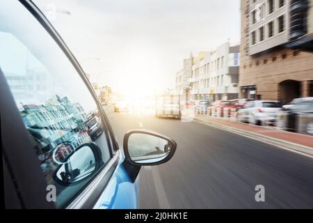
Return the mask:
[(239, 45), (224, 43), (212, 52), (193, 57), (191, 99), (238, 98)]

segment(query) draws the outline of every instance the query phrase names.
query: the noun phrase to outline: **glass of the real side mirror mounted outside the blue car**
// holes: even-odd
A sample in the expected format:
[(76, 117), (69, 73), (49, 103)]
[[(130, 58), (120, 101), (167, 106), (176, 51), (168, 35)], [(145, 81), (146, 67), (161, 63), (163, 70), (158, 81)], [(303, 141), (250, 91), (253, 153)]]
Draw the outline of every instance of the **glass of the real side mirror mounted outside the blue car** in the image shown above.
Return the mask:
[(129, 157), (138, 164), (160, 162), (170, 154), (172, 143), (151, 134), (133, 133), (128, 139)]

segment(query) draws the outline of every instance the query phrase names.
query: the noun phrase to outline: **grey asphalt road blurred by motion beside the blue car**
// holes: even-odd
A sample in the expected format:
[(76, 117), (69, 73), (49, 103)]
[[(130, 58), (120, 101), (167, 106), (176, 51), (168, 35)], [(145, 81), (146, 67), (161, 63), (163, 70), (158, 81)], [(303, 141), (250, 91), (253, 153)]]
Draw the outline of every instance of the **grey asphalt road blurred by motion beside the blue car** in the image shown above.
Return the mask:
[[(120, 145), (134, 128), (177, 141), (172, 160), (141, 169), (139, 208), (313, 208), (311, 157), (202, 123), (125, 113), (109, 119)], [(255, 201), (256, 185), (264, 185), (265, 202)]]

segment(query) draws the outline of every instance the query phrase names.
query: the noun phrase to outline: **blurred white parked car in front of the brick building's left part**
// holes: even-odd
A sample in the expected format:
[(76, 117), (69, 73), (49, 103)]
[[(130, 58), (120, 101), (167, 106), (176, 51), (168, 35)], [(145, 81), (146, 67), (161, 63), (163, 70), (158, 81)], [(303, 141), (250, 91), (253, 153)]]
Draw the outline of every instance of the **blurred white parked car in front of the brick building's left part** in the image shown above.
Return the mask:
[(266, 122), (276, 122), (280, 112), (280, 102), (271, 100), (253, 100), (247, 102), (239, 109), (239, 121), (249, 122), (254, 125), (262, 125)]

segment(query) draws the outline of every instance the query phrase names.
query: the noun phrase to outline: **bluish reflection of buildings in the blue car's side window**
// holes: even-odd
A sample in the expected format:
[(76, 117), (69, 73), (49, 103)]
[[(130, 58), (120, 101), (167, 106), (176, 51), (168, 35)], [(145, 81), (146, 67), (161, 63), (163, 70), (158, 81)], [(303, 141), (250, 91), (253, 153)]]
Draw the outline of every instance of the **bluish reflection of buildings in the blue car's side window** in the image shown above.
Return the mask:
[[(36, 153), (45, 166), (46, 176), (56, 169), (52, 158), (54, 148), (64, 142), (74, 147), (91, 141), (86, 128), (87, 115), (79, 103), (72, 103), (67, 97), (56, 95), (56, 100), (48, 100), (41, 105), (22, 105), (20, 109), (26, 128), (28, 128)], [(67, 148), (58, 149), (56, 157), (65, 159), (72, 153)]]

